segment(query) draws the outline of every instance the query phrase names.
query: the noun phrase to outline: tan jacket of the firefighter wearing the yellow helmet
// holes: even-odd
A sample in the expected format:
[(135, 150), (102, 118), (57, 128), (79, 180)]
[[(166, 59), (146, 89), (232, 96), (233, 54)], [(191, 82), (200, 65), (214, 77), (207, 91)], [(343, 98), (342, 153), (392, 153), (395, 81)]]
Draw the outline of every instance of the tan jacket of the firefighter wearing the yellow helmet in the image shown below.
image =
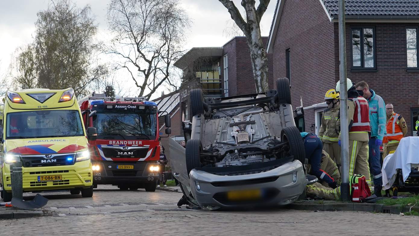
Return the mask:
[(323, 143), (337, 143), (340, 132), (339, 106), (332, 109), (325, 109), (321, 117), (321, 126), (318, 137)]

